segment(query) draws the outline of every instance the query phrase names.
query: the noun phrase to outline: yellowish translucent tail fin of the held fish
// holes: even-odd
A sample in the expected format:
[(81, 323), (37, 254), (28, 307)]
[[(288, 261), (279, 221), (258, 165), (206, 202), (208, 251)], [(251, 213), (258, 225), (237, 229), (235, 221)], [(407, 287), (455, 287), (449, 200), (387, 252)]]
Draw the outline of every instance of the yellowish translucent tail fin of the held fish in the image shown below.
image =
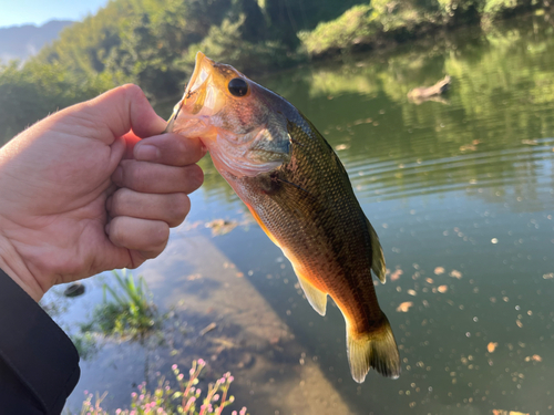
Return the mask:
[(400, 376), (397, 342), (384, 314), (381, 326), (371, 333), (361, 335), (351, 333), (347, 324), (347, 352), (350, 373), (358, 383), (366, 380), (370, 367), (387, 377)]

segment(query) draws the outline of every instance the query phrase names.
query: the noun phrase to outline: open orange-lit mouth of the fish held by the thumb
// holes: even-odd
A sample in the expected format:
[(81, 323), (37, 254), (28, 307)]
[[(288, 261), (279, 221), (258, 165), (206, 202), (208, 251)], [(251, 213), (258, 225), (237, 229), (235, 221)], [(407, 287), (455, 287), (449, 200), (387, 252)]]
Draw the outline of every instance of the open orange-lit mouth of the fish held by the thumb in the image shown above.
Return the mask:
[(173, 108), (164, 133), (176, 132), (175, 124), (178, 124), (179, 131), (189, 129), (187, 127), (198, 122), (206, 124), (209, 116), (219, 112), (225, 105), (225, 100), (213, 82), (214, 65), (214, 61), (198, 51), (183, 98)]

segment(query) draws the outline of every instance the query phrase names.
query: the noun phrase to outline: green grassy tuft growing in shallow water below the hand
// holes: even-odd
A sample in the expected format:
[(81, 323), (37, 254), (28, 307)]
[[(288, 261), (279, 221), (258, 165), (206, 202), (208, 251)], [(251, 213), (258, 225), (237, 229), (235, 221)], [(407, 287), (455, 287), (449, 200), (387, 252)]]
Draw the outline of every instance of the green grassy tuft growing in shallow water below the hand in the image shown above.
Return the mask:
[(82, 330), (98, 328), (104, 335), (141, 338), (158, 324), (156, 307), (150, 301), (144, 278), (138, 277), (135, 282), (133, 274), (126, 270), (122, 270), (121, 274), (112, 272), (120, 289), (103, 284), (104, 301), (94, 310), (93, 323), (82, 326)]

